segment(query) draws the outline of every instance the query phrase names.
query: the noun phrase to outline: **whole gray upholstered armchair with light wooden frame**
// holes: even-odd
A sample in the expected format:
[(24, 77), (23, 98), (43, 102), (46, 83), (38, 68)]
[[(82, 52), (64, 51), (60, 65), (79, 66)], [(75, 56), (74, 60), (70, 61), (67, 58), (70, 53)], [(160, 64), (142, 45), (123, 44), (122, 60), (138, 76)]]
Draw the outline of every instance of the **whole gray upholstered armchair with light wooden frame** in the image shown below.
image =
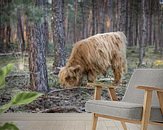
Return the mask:
[(127, 123), (148, 124), (163, 129), (163, 69), (136, 69), (129, 81), (122, 101), (117, 100), (114, 87), (108, 87), (112, 101), (100, 100), (101, 89), (106, 84), (89, 83), (95, 86), (95, 100), (86, 102), (86, 111), (93, 113), (92, 130), (96, 130), (98, 117), (118, 120), (127, 130)]

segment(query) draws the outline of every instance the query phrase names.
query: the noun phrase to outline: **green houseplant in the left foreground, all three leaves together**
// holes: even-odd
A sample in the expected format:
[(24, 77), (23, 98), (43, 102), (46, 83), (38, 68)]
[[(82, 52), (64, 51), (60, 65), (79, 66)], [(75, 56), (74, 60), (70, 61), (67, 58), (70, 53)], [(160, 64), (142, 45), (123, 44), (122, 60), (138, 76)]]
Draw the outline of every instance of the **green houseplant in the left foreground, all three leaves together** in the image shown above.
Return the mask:
[[(7, 66), (0, 69), (0, 88), (4, 86), (5, 77), (11, 72), (12, 68), (13, 68), (13, 64), (8, 64)], [(0, 113), (4, 113), (12, 106), (29, 104), (41, 95), (42, 94), (38, 92), (29, 92), (29, 91), (19, 92), (11, 99), (9, 103), (3, 105), (0, 108)], [(12, 123), (5, 123), (3, 126), (0, 126), (0, 130), (19, 130), (19, 129), (17, 128), (16, 125)]]

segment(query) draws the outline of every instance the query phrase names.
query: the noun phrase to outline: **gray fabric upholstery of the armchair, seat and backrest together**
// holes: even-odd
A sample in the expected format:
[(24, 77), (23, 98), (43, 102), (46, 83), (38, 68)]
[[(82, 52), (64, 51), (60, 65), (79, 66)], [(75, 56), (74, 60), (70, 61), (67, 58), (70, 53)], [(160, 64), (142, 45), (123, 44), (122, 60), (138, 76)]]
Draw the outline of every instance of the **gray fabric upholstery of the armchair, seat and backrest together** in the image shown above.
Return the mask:
[[(136, 89), (137, 86), (151, 86), (163, 88), (163, 69), (136, 69), (131, 76), (126, 93), (121, 102), (90, 100), (85, 109), (88, 112), (121, 117), (132, 120), (141, 120), (144, 91)], [(152, 98), (151, 121), (163, 122), (158, 97), (156, 93)]]

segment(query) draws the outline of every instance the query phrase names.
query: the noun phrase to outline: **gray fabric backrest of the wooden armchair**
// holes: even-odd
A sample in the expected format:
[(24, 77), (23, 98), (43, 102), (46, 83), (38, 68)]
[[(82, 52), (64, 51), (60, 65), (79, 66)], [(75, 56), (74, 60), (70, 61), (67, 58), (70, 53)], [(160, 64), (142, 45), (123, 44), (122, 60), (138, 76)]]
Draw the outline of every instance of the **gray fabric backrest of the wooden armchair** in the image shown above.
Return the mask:
[[(122, 101), (143, 104), (144, 91), (136, 89), (140, 85), (163, 88), (163, 69), (135, 69)], [(156, 92), (152, 106), (159, 106)]]

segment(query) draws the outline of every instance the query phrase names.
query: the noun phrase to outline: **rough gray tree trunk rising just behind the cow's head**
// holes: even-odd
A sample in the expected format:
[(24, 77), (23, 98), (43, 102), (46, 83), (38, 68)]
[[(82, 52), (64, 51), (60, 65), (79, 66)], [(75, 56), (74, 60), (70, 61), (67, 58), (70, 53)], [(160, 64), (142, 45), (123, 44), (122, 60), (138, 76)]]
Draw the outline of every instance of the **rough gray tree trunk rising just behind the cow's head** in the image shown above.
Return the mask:
[(53, 42), (54, 42), (54, 71), (58, 71), (57, 67), (62, 67), (66, 62), (65, 54), (65, 34), (64, 34), (64, 0), (52, 0), (53, 11)]

